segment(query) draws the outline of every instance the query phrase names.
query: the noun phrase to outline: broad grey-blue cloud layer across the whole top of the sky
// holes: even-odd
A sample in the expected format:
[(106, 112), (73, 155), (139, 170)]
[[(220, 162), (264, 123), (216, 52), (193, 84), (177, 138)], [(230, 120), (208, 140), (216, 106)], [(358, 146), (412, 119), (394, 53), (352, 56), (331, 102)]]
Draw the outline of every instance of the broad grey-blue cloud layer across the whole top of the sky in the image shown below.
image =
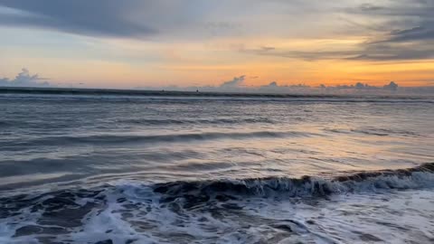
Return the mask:
[[(371, 1), (372, 2), (372, 1)], [(341, 47), (281, 48), (257, 43), (237, 51), (307, 61), (401, 61), (434, 58), (434, 1), (282, 0), (0, 0), (0, 25), (97, 37), (179, 42), (203, 38), (361, 42)], [(3, 11), (2, 11), (3, 9)], [(299, 23), (289, 24), (288, 23)], [(337, 37), (336, 37), (337, 34)], [(259, 38), (260, 39), (260, 38)], [(253, 39), (250, 39), (253, 40)], [(243, 41), (241, 41), (243, 42)], [(265, 41), (264, 41), (265, 42)], [(233, 46), (244, 46), (235, 43)]]

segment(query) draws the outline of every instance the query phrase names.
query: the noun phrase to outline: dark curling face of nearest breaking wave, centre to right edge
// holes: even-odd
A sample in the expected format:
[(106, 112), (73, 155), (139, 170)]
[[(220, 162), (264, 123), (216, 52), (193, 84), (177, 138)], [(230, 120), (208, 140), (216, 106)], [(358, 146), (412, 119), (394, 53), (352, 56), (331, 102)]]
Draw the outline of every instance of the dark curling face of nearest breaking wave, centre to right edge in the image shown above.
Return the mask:
[(212, 198), (219, 200), (242, 196), (320, 197), (335, 193), (427, 187), (434, 187), (434, 163), (409, 169), (341, 175), (331, 179), (304, 176), (157, 183), (154, 192), (162, 194), (167, 201), (180, 197), (195, 201), (202, 197), (208, 201)]

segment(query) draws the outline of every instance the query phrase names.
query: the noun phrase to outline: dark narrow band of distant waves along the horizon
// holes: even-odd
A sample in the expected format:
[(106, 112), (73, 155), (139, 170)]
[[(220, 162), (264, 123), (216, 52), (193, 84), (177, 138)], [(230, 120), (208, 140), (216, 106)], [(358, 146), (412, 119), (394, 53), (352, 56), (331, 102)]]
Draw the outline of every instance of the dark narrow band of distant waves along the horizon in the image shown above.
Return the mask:
[[(132, 90), (132, 89), (62, 89), (62, 88), (0, 88), (3, 96), (21, 95), (25, 99), (28, 96), (36, 98), (50, 95), (51, 99), (271, 99), (308, 102), (405, 102), (405, 103), (434, 103), (429, 96), (405, 96), (405, 95), (354, 95), (354, 94), (287, 94), (287, 93), (242, 93), (242, 92), (195, 92), (195, 91), (165, 91), (165, 90)], [(1, 99), (1, 97), (0, 97)], [(14, 99), (20, 97), (14, 96)]]

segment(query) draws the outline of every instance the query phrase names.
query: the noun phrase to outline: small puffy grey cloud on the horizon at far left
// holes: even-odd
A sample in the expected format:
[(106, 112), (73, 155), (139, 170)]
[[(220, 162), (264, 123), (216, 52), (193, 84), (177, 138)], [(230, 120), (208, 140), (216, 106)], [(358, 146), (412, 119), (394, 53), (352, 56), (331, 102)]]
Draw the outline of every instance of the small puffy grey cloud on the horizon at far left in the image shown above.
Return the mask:
[(23, 69), (18, 73), (13, 80), (7, 78), (0, 79), (0, 87), (47, 87), (50, 83), (47, 81), (40, 82), (40, 80), (48, 80), (40, 78), (37, 74), (31, 75), (29, 70)]

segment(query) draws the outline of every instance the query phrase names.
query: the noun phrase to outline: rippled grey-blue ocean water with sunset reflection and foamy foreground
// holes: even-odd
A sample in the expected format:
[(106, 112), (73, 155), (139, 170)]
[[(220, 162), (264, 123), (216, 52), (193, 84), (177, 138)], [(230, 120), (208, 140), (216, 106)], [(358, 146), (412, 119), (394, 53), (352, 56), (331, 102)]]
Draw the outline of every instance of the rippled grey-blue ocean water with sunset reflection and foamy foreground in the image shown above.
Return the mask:
[(434, 243), (434, 99), (0, 94), (0, 243)]

